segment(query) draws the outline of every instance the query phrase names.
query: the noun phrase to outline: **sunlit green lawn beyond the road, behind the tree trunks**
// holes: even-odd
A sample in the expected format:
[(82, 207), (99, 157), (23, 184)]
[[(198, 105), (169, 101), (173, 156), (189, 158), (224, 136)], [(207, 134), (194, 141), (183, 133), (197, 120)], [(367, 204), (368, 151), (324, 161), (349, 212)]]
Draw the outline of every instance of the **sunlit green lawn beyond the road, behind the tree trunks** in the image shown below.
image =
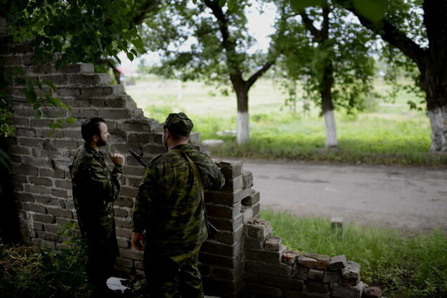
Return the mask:
[[(387, 89), (377, 82), (376, 91)], [(228, 86), (229, 87), (229, 86)], [(250, 142), (236, 145), (235, 136), (219, 131), (235, 130), (236, 99), (224, 96), (214, 86), (201, 82), (180, 84), (174, 80), (146, 79), (127, 86), (147, 117), (160, 122), (169, 112), (186, 112), (201, 139), (224, 139), (224, 148), (214, 155), (270, 159), (322, 160), (368, 164), (447, 165), (446, 155), (429, 153), (430, 127), (425, 112), (410, 110), (415, 98), (399, 93), (394, 103), (372, 102), (374, 108), (356, 115), (336, 113), (337, 150), (325, 150), (325, 126), (315, 107), (304, 112), (302, 103), (293, 110), (285, 106), (285, 94), (271, 80), (261, 79), (250, 91)]]

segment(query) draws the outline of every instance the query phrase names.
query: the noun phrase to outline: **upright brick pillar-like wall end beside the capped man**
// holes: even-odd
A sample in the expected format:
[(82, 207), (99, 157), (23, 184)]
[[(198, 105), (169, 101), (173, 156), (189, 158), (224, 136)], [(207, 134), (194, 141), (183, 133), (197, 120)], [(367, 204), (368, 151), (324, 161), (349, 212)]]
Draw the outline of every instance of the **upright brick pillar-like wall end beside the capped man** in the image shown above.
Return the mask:
[(206, 294), (216, 297), (244, 297), (244, 226), (259, 217), (259, 191), (253, 190), (253, 176), (242, 162), (218, 162), (226, 184), (205, 193), (209, 221), (219, 229), (202, 245), (200, 272)]

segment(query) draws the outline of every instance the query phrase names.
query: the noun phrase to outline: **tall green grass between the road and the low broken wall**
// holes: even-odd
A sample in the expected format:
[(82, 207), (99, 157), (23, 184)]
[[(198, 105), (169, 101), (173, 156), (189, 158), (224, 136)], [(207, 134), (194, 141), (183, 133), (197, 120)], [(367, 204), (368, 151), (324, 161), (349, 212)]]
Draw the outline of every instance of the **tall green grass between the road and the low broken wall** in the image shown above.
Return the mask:
[(346, 258), (361, 264), (361, 279), (395, 298), (447, 297), (447, 236), (441, 231), (403, 235), (398, 230), (344, 224), (342, 235), (330, 219), (262, 210), (273, 234), (299, 252)]

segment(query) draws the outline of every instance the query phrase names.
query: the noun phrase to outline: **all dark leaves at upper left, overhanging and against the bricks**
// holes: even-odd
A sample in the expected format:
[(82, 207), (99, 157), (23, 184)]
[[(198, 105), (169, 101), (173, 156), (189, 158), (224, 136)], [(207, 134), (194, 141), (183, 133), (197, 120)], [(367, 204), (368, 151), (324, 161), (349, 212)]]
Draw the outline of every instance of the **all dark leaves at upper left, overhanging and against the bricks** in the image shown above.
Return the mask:
[[(0, 18), (5, 18), (13, 40), (29, 43), (34, 51), (34, 65), (56, 63), (56, 68), (79, 61), (91, 62), (101, 57), (114, 57), (124, 51), (130, 60), (143, 50), (134, 16), (133, 0), (1, 0)], [(55, 56), (55, 53), (60, 55)], [(25, 86), (26, 102), (36, 110), (36, 117), (48, 114), (47, 107), (67, 108), (51, 82), (27, 77), (19, 67), (0, 65), (0, 134), (8, 136), (14, 130), (11, 123), (14, 99), (6, 88), (13, 84)], [(61, 115), (51, 115), (61, 117)], [(62, 127), (72, 118), (61, 118), (51, 127)]]

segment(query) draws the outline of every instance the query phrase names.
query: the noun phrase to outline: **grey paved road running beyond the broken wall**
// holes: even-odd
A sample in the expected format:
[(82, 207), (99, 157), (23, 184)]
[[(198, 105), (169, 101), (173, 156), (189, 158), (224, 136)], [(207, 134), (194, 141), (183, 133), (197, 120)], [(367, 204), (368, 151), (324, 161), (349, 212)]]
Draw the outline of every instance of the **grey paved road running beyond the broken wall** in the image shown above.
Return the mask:
[(358, 224), (447, 231), (447, 170), (244, 160), (261, 208)]

